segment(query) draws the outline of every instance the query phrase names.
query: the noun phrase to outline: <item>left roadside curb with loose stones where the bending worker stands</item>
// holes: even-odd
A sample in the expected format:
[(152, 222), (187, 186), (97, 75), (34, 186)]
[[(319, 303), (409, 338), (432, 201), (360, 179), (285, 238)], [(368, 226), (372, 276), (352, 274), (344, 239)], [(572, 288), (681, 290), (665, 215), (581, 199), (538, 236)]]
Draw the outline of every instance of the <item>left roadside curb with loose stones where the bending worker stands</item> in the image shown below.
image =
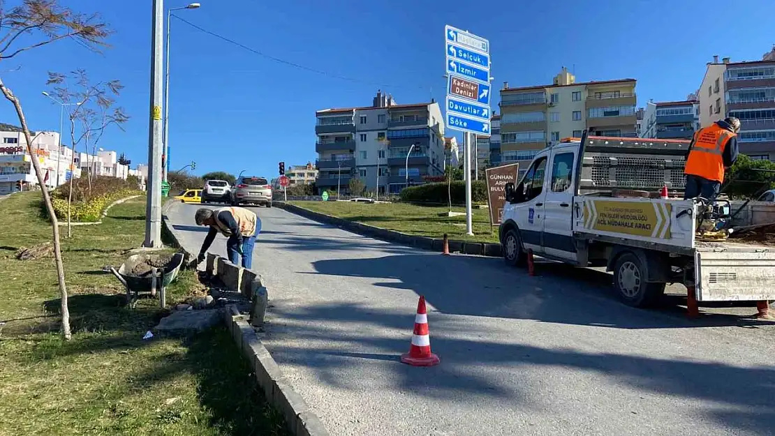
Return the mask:
[[(172, 225), (167, 218), (167, 212), (172, 204), (174, 204), (173, 201), (167, 202), (162, 208), (162, 231), (167, 232), (177, 249), (183, 251), (189, 259), (194, 259), (193, 255), (183, 248), (172, 232)], [(212, 253), (207, 256), (207, 269), (217, 275), (222, 273), (228, 275), (228, 280), (222, 281), (232, 291), (243, 294), (247, 291), (253, 294), (252, 298), (260, 298), (260, 294), (257, 293), (259, 290), (263, 290), (263, 303), (264, 308), (266, 307), (266, 288), (262, 286), (260, 275), (257, 273), (232, 265), (226, 259)], [(288, 430), (294, 436), (329, 436), (329, 432), (325, 430), (320, 418), (308, 407), (301, 395), (293, 389), (289, 380), (283, 376), (280, 366), (274, 361), (269, 350), (263, 346), (253, 326), (246, 321), (246, 318), (247, 316), (240, 314), (234, 306), (227, 306), (223, 311), (223, 323), (239, 351), (250, 363), (253, 377), (263, 390), (264, 397), (272, 406), (280, 410), (285, 423), (288, 424)], [(260, 315), (260, 321), (263, 323), (263, 314)]]

